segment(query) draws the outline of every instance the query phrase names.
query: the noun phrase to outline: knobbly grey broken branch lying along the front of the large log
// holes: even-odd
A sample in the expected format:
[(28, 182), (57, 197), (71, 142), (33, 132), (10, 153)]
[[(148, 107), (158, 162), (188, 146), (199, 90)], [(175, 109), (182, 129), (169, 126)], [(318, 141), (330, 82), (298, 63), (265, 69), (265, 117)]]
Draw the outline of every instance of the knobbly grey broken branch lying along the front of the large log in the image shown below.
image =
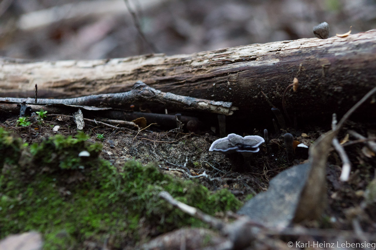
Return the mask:
[[(0, 98), (0, 101), (26, 102), (27, 104), (35, 103), (33, 98)], [(93, 106), (93, 107), (112, 107), (123, 108), (133, 103), (158, 103), (167, 105), (181, 110), (190, 110), (198, 112), (210, 112), (217, 114), (233, 114), (231, 102), (215, 102), (205, 99), (198, 99), (188, 96), (174, 95), (164, 93), (147, 86), (142, 81), (133, 84), (132, 90), (123, 93), (89, 95), (70, 99), (38, 99), (37, 104), (65, 104), (75, 106)]]

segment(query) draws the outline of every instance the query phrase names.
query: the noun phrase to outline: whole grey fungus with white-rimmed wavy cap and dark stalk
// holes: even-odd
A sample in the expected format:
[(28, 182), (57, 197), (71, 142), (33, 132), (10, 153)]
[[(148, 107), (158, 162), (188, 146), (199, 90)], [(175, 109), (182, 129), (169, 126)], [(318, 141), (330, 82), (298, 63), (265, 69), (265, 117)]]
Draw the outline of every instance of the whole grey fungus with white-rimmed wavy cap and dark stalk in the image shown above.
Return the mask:
[[(227, 155), (232, 162), (232, 169), (241, 171), (244, 170), (244, 165), (250, 166), (252, 154), (258, 152), (259, 146), (264, 142), (264, 138), (261, 136), (242, 137), (237, 134), (229, 134), (227, 137), (215, 140), (209, 151)], [(239, 154), (243, 155), (243, 159), (239, 157)]]

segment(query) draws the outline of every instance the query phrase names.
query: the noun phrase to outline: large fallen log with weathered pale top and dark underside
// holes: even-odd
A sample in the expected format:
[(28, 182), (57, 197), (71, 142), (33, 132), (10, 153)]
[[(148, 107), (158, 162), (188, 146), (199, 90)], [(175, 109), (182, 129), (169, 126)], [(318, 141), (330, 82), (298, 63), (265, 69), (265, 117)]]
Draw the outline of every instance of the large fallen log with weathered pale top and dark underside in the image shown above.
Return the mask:
[[(253, 118), (282, 108), (299, 117), (327, 117), (348, 110), (375, 84), (376, 30), (345, 38), (306, 38), (253, 44), (190, 55), (150, 54), (109, 60), (30, 62), (2, 59), (1, 95), (77, 97), (130, 90), (135, 81), (177, 95), (233, 102), (234, 117)], [(265, 93), (262, 95), (261, 91)], [(362, 111), (374, 110), (374, 105)], [(368, 118), (374, 118), (370, 112)]]

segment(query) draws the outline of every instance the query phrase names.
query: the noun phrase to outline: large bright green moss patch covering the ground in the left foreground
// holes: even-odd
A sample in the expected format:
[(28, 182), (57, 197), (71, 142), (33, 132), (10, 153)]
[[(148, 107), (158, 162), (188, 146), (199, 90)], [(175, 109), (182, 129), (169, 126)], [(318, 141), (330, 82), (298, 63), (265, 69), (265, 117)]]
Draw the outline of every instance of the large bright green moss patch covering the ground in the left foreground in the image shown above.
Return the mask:
[[(82, 248), (87, 240), (98, 244), (108, 240), (112, 247), (122, 248), (141, 238), (141, 227), (162, 233), (203, 225), (159, 198), (162, 190), (211, 215), (241, 205), (227, 190), (212, 193), (195, 181), (164, 175), (156, 164), (128, 161), (116, 169), (97, 158), (97, 146), (82, 134), (78, 137), (55, 136), (33, 145), (30, 155), (35, 169), (13, 165), (0, 173), (0, 238), (38, 230), (44, 234), (44, 249)], [(93, 153), (91, 159), (74, 160), (81, 150)], [(68, 160), (60, 164), (63, 155)], [(45, 171), (46, 167), (54, 171)], [(84, 179), (68, 184), (77, 174)]]

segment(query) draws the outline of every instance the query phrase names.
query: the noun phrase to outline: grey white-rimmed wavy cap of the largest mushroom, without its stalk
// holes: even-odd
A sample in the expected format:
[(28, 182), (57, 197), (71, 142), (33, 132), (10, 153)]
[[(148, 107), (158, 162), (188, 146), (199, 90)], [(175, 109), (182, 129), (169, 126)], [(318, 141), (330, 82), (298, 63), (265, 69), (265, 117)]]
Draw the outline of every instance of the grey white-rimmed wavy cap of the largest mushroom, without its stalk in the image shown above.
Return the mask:
[(239, 136), (229, 134), (227, 137), (215, 140), (209, 148), (209, 151), (217, 151), (223, 154), (239, 152), (241, 154), (258, 152), (261, 143), (264, 143), (261, 136)]

